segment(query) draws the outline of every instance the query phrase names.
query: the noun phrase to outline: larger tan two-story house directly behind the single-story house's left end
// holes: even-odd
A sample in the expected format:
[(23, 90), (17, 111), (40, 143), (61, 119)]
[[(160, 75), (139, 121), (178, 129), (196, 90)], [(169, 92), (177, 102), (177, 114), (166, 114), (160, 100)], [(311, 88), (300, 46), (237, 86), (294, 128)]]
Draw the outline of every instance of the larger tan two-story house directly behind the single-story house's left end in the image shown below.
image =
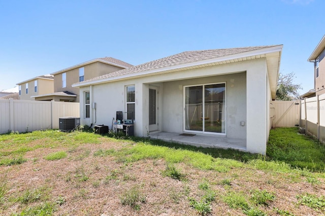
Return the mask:
[(79, 102), (79, 89), (71, 85), (93, 77), (126, 69), (133, 65), (112, 57), (93, 59), (57, 72), (54, 76), (54, 91), (48, 94), (35, 96), (38, 101), (66, 101)]

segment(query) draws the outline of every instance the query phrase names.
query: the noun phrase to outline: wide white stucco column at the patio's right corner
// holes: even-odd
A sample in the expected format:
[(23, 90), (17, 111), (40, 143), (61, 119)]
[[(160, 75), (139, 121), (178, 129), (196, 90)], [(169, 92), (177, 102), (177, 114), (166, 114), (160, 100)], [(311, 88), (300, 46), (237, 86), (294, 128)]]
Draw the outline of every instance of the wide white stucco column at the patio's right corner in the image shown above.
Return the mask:
[(263, 155), (266, 154), (269, 118), (267, 81), (266, 59), (252, 62), (246, 71), (246, 151)]

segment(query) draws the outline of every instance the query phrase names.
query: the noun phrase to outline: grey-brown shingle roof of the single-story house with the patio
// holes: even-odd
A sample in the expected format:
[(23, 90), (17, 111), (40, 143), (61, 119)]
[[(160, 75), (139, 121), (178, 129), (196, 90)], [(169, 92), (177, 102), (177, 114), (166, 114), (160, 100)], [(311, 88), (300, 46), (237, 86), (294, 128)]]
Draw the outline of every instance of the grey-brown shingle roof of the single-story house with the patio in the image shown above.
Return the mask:
[(153, 69), (159, 69), (159, 68), (164, 68), (169, 66), (208, 60), (208, 59), (213, 59), (213, 58), (218, 58), (223, 56), (230, 56), (234, 54), (256, 51), (256, 50), (261, 50), (261, 49), (266, 49), (266, 48), (271, 48), (276, 46), (278, 45), (232, 48), (232, 49), (217, 49), (217, 50), (186, 51), (162, 59), (157, 59), (151, 62), (147, 62), (141, 65), (133, 66), (123, 70), (118, 70), (109, 74), (105, 74), (102, 76), (94, 77), (82, 82), (78, 82), (78, 84), (83, 82), (96, 81), (96, 80), (101, 80), (101, 79), (106, 79), (106, 78), (111, 78), (111, 77), (116, 77), (121, 75), (127, 75), (127, 74), (132, 74), (137, 72), (143, 72), (143, 71), (148, 71)]

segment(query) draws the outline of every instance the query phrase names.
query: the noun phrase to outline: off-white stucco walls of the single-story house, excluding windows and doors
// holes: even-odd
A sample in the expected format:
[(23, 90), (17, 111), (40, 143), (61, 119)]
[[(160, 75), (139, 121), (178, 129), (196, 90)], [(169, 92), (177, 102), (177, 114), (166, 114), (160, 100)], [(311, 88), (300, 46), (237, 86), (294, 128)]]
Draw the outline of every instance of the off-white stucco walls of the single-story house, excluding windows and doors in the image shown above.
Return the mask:
[[(125, 86), (134, 84), (135, 135), (146, 136), (149, 122), (148, 89), (149, 85), (155, 85), (159, 88), (158, 130), (180, 133), (184, 128), (184, 85), (214, 82), (226, 82), (226, 137), (246, 139), (247, 151), (265, 154), (271, 100), (265, 58), (80, 88), (81, 95), (90, 91), (90, 102), (96, 103), (96, 110), (91, 109), (90, 118), (85, 119), (84, 101), (80, 97), (81, 124), (105, 124), (111, 128), (116, 111), (126, 110)], [(245, 126), (240, 125), (241, 121), (245, 121)]]

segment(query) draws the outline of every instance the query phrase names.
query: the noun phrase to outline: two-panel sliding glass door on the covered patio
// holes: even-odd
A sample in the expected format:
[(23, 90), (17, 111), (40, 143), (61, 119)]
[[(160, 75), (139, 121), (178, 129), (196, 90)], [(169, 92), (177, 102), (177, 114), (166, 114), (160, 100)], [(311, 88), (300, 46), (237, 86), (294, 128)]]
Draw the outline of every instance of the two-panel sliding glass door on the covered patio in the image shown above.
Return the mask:
[(184, 88), (185, 131), (225, 134), (225, 83)]

